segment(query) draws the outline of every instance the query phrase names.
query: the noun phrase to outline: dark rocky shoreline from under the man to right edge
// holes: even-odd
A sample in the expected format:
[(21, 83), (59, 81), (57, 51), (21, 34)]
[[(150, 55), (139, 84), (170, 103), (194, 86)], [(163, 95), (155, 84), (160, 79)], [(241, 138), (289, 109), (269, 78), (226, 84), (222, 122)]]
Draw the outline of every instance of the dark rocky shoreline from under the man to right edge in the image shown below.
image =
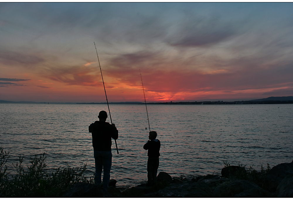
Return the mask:
[(107, 191), (78, 182), (62, 197), (293, 197), (293, 161), (257, 172), (245, 166), (226, 166), (221, 175), (171, 177), (160, 172), (155, 186), (146, 183), (123, 188), (111, 180)]

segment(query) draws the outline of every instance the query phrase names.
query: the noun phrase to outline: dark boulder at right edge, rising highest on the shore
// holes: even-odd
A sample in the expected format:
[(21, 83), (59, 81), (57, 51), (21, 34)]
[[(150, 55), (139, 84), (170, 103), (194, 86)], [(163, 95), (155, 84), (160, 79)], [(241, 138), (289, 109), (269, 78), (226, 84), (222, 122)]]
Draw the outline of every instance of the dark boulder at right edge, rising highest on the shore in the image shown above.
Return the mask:
[(265, 177), (264, 189), (269, 192), (275, 192), (286, 176), (293, 176), (293, 161), (291, 163), (281, 163), (273, 167)]

